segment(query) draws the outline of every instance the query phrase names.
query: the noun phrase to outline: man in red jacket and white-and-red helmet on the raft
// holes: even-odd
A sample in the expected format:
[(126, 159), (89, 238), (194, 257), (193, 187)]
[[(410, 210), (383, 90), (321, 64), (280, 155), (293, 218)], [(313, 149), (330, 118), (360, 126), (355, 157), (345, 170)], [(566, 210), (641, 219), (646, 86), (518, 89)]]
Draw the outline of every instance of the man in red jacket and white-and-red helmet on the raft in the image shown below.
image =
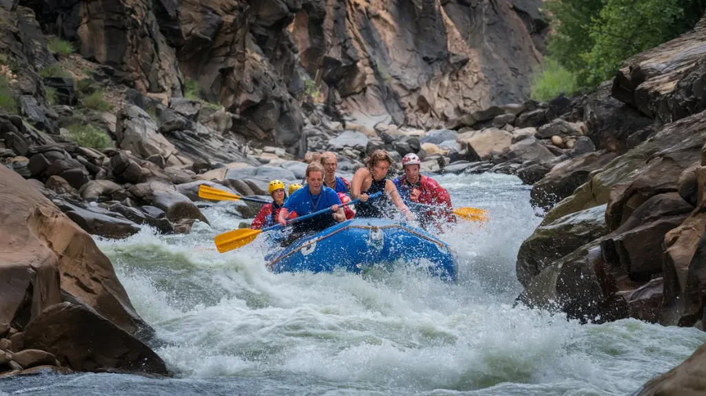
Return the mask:
[[(425, 229), (429, 225), (436, 225), (441, 229), (441, 224), (455, 223), (451, 197), (436, 180), (424, 175), (419, 175), (421, 160), (417, 154), (409, 153), (402, 158), (402, 168), (405, 175), (394, 180), (400, 197), (414, 211), (419, 218), (419, 223)], [(436, 206), (431, 208), (430, 206)]]

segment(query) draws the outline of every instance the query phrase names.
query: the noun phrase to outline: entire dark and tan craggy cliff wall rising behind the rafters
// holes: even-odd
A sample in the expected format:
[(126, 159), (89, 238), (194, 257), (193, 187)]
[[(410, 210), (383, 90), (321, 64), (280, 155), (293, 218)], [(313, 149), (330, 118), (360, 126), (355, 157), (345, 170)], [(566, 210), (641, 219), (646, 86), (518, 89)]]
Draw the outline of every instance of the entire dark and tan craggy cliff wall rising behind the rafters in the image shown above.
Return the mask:
[(143, 93), (187, 79), (233, 130), (304, 151), (301, 99), (347, 120), (433, 128), (529, 95), (546, 25), (539, 0), (26, 0)]

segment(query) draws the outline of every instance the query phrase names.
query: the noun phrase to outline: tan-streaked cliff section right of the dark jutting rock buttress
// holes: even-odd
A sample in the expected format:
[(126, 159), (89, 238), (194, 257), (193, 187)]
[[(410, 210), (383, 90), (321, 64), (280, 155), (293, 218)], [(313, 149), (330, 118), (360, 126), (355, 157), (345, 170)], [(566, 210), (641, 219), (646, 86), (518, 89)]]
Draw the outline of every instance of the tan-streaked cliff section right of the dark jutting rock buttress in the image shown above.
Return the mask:
[[(539, 4), (530, 8), (537, 12)], [(329, 103), (359, 122), (433, 128), (526, 99), (541, 55), (508, 1), (312, 1), (292, 35)], [(541, 40), (540, 40), (541, 41)]]

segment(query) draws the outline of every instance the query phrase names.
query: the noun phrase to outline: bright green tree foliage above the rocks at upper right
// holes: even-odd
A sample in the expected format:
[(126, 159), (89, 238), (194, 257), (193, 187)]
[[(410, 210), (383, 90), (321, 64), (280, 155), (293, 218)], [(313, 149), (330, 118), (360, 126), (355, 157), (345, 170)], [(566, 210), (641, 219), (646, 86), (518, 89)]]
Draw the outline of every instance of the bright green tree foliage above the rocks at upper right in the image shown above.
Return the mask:
[(612, 78), (630, 56), (688, 32), (706, 0), (546, 0), (554, 34), (532, 97), (590, 90)]

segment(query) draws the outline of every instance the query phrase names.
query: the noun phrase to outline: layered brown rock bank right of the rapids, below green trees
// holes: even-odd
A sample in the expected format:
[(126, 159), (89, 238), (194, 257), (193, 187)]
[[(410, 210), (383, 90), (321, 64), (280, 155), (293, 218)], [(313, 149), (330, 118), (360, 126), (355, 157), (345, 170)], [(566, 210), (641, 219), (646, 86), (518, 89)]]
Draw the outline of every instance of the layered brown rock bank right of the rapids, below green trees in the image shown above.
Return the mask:
[[(625, 105), (607, 111), (594, 106), (604, 109), (594, 125), (633, 112), (625, 106), (643, 115), (633, 114), (630, 122), (623, 117), (621, 128), (613, 130), (607, 149), (614, 158), (585, 168), (582, 184), (572, 180), (577, 160), (555, 166), (534, 184), (533, 197), (540, 197), (539, 189), (561, 192), (554, 198), (561, 202), (552, 207), (544, 198), (541, 204), (551, 210), (520, 247), (522, 302), (552, 304), (584, 320), (634, 317), (703, 327), (706, 112), (698, 81), (706, 75), (705, 26), (701, 20), (692, 32), (628, 59), (613, 82), (606, 82), (604, 92), (610, 87)], [(605, 140), (604, 132), (599, 136)], [(558, 227), (567, 223), (571, 231)], [(537, 249), (539, 240), (555, 247), (553, 256)]]

